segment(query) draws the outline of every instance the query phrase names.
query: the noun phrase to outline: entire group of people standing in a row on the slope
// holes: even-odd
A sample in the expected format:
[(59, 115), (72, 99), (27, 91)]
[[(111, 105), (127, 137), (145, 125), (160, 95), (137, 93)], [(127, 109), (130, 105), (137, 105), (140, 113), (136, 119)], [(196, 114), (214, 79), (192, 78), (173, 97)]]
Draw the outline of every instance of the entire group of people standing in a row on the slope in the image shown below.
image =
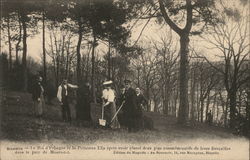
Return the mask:
[[(133, 89), (131, 81), (125, 80), (121, 88), (121, 94), (117, 95), (112, 89), (113, 82), (103, 83), (102, 107), (104, 109), (104, 119), (107, 126), (112, 129), (121, 127), (121, 124), (128, 128), (129, 132), (135, 132), (140, 129), (143, 117), (143, 106), (147, 105), (147, 100), (141, 94), (139, 88)], [(90, 84), (84, 83), (82, 86), (73, 85), (62, 81), (57, 90), (57, 99), (62, 108), (62, 119), (65, 122), (71, 122), (71, 110), (69, 107), (69, 88), (77, 90), (76, 119), (78, 122), (91, 121), (91, 92)], [(38, 118), (42, 118), (44, 102), (44, 88), (42, 86), (42, 77), (38, 77), (32, 94), (34, 101), (34, 110)], [(122, 114), (121, 114), (122, 112)], [(119, 113), (119, 117), (118, 117)], [(121, 118), (122, 117), (122, 118)], [(122, 121), (121, 123), (119, 121)]]

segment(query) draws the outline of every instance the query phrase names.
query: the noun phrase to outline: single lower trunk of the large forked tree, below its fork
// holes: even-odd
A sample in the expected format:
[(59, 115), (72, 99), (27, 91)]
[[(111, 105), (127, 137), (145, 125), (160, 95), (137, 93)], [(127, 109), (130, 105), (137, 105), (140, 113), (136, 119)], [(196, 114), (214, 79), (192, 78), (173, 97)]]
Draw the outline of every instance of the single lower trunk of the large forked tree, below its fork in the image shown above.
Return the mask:
[(185, 125), (188, 120), (188, 34), (180, 37), (180, 106), (178, 124)]

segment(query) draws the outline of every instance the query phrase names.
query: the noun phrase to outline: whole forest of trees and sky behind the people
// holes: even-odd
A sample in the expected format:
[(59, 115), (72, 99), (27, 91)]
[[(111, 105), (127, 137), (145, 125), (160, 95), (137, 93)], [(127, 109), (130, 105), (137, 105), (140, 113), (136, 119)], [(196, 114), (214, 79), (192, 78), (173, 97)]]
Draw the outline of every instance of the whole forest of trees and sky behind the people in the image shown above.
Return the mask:
[[(214, 126), (247, 136), (248, 10), (247, 0), (2, 0), (4, 89), (30, 92), (40, 75), (50, 103), (66, 78), (89, 82), (96, 104), (105, 80), (119, 94), (131, 79), (145, 112), (181, 126), (206, 123), (210, 112)], [(149, 24), (161, 28), (153, 38)]]

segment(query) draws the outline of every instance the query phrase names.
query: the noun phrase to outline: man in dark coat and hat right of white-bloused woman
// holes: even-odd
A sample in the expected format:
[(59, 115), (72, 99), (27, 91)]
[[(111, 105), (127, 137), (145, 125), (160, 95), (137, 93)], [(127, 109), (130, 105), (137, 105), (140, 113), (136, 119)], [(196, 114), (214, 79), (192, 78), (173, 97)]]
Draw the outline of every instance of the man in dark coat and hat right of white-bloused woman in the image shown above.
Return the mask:
[(123, 114), (126, 121), (126, 126), (128, 127), (129, 132), (137, 131), (136, 121), (138, 117), (137, 103), (136, 103), (136, 92), (131, 87), (130, 80), (124, 80), (125, 84), (125, 93), (124, 93), (124, 106)]

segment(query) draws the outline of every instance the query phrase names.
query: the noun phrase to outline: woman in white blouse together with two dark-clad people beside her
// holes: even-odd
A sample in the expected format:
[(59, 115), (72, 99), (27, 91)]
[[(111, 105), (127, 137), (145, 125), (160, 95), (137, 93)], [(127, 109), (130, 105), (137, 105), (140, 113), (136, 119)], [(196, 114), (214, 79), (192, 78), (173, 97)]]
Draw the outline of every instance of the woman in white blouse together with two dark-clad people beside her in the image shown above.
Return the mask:
[[(112, 81), (103, 83), (105, 89), (102, 93), (105, 119), (110, 128), (120, 128), (117, 113), (121, 110), (122, 124), (128, 128), (129, 132), (140, 130), (143, 121), (143, 106), (147, 105), (147, 100), (141, 94), (139, 88), (133, 89), (130, 80), (124, 81), (119, 97), (115, 97), (115, 91), (111, 88)], [(118, 101), (118, 102), (115, 102)], [(118, 107), (116, 107), (118, 104)], [(118, 110), (117, 110), (118, 109)]]

